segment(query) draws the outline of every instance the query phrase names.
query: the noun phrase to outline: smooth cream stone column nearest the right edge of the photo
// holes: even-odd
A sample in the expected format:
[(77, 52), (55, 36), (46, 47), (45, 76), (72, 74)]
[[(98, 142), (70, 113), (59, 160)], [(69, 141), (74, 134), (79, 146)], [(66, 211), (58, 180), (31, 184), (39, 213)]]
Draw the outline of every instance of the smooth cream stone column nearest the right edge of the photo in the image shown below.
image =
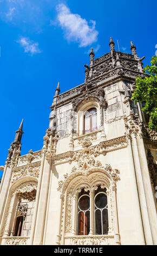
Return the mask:
[[(152, 191), (151, 179), (150, 179), (149, 170), (148, 170), (146, 151), (145, 151), (145, 146), (144, 146), (142, 137), (137, 138), (137, 144), (138, 144), (139, 160), (140, 160), (140, 165), (141, 165), (142, 181), (143, 181), (143, 186), (144, 186), (144, 190), (145, 190), (144, 193), (145, 193), (146, 204), (147, 204), (147, 207), (145, 210), (148, 212), (149, 224), (151, 226), (151, 233), (152, 233), (152, 237), (150, 235), (149, 240), (151, 240), (151, 242), (152, 242), (152, 239), (153, 239), (153, 244), (157, 245), (156, 207), (155, 207), (154, 196), (153, 196), (153, 191)], [(147, 234), (148, 234), (148, 232), (147, 232)], [(152, 243), (149, 243), (149, 244), (152, 245)]]

